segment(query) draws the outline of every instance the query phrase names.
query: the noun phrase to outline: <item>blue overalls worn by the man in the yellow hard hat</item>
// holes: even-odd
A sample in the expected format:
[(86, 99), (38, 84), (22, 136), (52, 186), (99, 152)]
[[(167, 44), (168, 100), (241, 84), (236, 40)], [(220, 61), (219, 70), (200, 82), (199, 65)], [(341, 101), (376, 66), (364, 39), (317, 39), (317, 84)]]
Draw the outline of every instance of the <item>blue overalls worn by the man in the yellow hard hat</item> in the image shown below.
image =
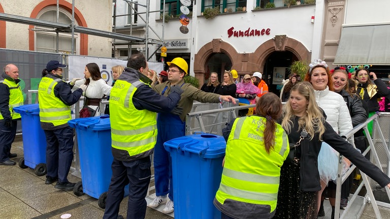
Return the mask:
[(185, 135), (185, 122), (172, 114), (159, 113), (157, 118), (157, 142), (154, 147), (154, 184), (156, 196), (169, 193), (173, 201), (171, 155), (164, 148), (164, 142)]

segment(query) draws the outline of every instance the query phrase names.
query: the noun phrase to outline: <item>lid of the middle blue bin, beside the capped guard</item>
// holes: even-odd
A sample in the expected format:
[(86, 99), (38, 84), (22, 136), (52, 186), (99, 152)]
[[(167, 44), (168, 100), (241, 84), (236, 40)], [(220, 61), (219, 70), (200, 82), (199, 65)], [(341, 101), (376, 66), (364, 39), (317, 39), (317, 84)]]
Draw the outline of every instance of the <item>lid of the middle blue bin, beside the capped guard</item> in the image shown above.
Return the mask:
[(110, 117), (88, 117), (69, 120), (68, 124), (72, 128), (88, 129), (92, 131), (110, 130)]

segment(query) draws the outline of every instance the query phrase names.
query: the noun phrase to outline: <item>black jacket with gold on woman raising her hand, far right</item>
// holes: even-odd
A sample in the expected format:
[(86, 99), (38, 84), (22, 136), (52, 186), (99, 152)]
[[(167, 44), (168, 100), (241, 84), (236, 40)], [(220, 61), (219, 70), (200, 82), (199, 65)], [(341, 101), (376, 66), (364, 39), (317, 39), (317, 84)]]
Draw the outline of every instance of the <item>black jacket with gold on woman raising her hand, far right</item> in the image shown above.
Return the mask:
[(377, 87), (377, 92), (371, 98), (367, 93), (367, 86), (369, 85), (368, 82), (366, 82), (364, 84), (359, 83), (357, 88), (356, 88), (356, 94), (358, 94), (358, 95), (362, 89), (365, 89), (363, 100), (367, 103), (369, 112), (378, 112), (379, 111), (378, 98), (389, 94), (389, 90), (387, 89), (386, 84), (381, 79), (375, 80), (374, 83)]

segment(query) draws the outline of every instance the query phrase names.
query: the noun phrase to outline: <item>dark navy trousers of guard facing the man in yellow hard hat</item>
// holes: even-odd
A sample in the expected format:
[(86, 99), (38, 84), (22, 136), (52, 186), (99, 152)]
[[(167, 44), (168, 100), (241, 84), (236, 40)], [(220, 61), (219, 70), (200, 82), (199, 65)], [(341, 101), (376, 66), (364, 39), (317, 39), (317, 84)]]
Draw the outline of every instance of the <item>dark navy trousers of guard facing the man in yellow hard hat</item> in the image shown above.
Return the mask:
[(128, 184), (127, 219), (145, 218), (145, 197), (150, 183), (150, 166), (150, 156), (135, 161), (119, 161), (114, 158), (103, 219), (118, 217), (124, 187)]

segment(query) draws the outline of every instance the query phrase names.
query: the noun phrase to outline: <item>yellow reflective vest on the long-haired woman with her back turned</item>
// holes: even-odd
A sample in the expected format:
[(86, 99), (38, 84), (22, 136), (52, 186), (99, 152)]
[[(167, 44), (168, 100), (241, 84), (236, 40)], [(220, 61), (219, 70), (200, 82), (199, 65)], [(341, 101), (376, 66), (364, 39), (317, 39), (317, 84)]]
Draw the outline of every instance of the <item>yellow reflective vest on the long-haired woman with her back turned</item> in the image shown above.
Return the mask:
[[(280, 167), (289, 147), (286, 133), (276, 124), (274, 148), (268, 154), (264, 145), (265, 124), (266, 119), (258, 116), (242, 117), (233, 124), (214, 200), (216, 207), (227, 215), (263, 218), (259, 214), (273, 214), (276, 209)], [(244, 208), (235, 208), (237, 205)]]

